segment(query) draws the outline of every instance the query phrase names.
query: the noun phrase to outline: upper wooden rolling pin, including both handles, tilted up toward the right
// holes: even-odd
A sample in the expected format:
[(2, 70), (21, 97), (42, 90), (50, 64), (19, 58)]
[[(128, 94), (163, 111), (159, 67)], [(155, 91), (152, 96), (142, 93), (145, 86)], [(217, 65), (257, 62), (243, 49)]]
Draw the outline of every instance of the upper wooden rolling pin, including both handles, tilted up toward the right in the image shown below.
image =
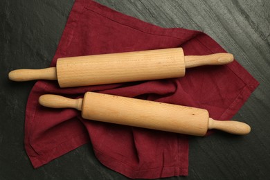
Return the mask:
[(80, 87), (139, 80), (179, 78), (186, 68), (221, 65), (233, 61), (230, 53), (184, 56), (182, 48), (167, 48), (129, 53), (64, 57), (56, 68), (17, 69), (10, 80), (58, 80), (60, 87)]

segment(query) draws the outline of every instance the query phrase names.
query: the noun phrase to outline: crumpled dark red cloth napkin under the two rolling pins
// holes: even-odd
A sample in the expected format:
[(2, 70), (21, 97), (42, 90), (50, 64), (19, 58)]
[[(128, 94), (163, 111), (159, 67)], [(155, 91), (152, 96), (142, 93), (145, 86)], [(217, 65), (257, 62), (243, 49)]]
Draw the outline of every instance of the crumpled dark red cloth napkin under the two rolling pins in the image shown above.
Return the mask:
[[(77, 0), (51, 66), (58, 57), (183, 47), (186, 55), (226, 52), (208, 35), (183, 28), (160, 28), (93, 1)], [(85, 143), (101, 163), (131, 178), (188, 174), (188, 136), (84, 120), (75, 109), (38, 105), (44, 93), (79, 98), (87, 91), (145, 98), (208, 109), (230, 119), (258, 82), (237, 62), (188, 69), (184, 78), (60, 89), (38, 81), (26, 107), (25, 147), (35, 168)]]

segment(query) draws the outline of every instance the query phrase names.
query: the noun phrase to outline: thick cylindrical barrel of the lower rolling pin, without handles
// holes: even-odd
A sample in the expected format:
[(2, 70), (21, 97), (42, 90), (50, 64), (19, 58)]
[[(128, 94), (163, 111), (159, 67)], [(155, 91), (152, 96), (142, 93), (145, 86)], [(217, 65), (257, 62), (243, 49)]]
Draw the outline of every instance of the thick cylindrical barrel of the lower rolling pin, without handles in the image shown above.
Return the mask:
[(84, 95), (82, 117), (106, 123), (204, 136), (209, 115), (205, 109), (87, 92)]

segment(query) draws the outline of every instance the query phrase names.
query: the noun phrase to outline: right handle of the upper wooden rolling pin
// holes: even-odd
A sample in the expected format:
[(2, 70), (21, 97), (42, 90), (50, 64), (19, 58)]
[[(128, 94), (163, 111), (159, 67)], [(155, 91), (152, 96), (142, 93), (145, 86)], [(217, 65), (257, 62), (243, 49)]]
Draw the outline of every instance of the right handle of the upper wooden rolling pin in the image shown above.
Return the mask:
[(204, 65), (223, 65), (233, 62), (233, 55), (230, 53), (216, 53), (211, 55), (186, 55), (185, 66), (192, 68)]

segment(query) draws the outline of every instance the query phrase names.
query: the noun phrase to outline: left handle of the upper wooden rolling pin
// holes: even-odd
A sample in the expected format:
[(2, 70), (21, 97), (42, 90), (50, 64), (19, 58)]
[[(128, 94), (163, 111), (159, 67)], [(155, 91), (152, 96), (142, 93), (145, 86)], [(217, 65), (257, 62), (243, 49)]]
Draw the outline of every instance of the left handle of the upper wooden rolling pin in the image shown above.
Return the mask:
[(13, 81), (57, 80), (57, 75), (55, 67), (46, 69), (17, 69), (10, 71), (8, 78)]

